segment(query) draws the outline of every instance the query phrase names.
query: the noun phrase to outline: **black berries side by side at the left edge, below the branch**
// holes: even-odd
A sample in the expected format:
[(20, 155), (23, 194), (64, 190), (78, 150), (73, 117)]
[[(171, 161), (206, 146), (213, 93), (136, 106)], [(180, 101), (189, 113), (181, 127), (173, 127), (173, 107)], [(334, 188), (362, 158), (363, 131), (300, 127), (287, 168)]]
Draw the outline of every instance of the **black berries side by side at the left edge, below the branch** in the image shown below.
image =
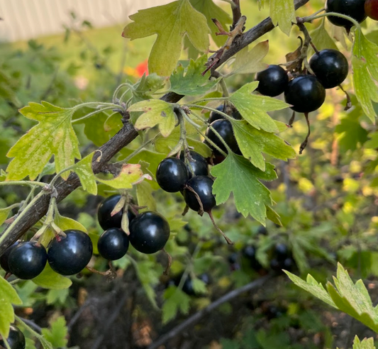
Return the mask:
[(19, 279), (37, 277), (47, 262), (60, 275), (81, 272), (92, 256), (91, 239), (84, 231), (70, 229), (64, 233), (51, 240), (48, 250), (38, 241), (16, 241), (1, 255), (1, 267)]

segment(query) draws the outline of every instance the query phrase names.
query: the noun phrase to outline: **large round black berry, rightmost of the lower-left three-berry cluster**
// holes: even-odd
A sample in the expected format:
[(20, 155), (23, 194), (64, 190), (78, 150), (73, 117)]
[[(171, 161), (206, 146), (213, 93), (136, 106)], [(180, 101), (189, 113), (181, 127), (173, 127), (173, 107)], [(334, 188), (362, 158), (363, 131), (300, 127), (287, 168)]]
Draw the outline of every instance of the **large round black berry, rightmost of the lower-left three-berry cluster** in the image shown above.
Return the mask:
[(157, 212), (145, 211), (131, 222), (128, 238), (135, 250), (150, 254), (164, 248), (169, 233), (169, 223), (165, 217)]

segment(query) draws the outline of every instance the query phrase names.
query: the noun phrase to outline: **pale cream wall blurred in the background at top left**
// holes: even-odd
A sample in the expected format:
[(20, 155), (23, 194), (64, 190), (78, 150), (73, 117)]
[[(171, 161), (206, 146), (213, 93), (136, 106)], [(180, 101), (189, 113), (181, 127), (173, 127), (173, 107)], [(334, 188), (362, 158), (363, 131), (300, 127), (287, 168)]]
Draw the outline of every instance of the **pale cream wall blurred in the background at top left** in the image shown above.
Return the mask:
[(61, 33), (70, 12), (95, 27), (126, 23), (140, 9), (172, 0), (0, 0), (0, 41), (16, 41)]

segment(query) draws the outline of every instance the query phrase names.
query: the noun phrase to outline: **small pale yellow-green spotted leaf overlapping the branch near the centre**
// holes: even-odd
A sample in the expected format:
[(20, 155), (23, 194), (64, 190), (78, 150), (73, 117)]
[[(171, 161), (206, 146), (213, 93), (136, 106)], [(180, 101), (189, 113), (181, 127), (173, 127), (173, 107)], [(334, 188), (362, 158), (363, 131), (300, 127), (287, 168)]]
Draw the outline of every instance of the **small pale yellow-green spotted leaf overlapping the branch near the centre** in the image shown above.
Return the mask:
[(176, 125), (174, 105), (160, 99), (140, 101), (130, 106), (128, 111), (143, 111), (143, 114), (134, 123), (137, 130), (144, 130), (159, 124), (159, 131), (164, 137), (167, 137)]

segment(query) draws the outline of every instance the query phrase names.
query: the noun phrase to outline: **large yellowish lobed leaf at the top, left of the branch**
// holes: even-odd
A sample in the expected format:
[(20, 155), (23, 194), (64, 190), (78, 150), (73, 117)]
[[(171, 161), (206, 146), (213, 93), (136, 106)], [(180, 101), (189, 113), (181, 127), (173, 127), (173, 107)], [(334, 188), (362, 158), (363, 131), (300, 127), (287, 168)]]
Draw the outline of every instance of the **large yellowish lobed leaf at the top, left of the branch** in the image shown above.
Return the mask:
[(140, 10), (130, 16), (133, 23), (123, 29), (123, 36), (131, 40), (157, 35), (148, 59), (148, 70), (167, 77), (179, 60), (182, 40), (187, 35), (194, 47), (206, 52), (209, 48), (209, 27), (202, 13), (189, 0)]

